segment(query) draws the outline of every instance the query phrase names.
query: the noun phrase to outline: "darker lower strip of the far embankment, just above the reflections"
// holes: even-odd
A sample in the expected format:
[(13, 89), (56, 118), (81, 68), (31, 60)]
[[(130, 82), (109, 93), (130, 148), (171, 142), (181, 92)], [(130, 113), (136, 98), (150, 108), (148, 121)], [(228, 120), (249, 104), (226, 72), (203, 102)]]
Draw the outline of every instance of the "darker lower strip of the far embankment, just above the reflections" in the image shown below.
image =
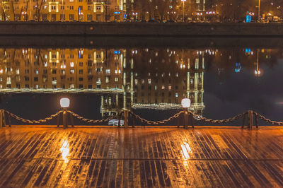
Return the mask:
[(2, 36), (0, 47), (283, 47), (283, 37), (56, 37), (56, 36)]

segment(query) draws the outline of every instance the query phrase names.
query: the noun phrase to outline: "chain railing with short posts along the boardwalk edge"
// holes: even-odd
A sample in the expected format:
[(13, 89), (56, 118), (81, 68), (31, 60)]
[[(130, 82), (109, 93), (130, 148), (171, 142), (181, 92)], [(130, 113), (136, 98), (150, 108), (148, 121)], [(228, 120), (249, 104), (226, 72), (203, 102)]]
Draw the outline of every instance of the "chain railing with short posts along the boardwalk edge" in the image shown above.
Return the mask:
[[(261, 114), (258, 114), (257, 112), (253, 112), (252, 110), (249, 110), (248, 112), (243, 112), (242, 114), (238, 114), (234, 117), (228, 118), (228, 119), (208, 119), (207, 117), (202, 117), (198, 114), (194, 114), (191, 111), (180, 111), (173, 116), (169, 117), (168, 119), (158, 120), (158, 121), (152, 121), (148, 119), (144, 119), (140, 117), (138, 114), (135, 114), (132, 111), (129, 110), (122, 110), (118, 114), (115, 114), (111, 117), (107, 117), (105, 119), (88, 119), (85, 117), (80, 116), (79, 114), (76, 114), (74, 112), (71, 112), (70, 110), (60, 110), (59, 112), (50, 115), (49, 117), (46, 117), (45, 119), (37, 119), (37, 120), (30, 120), (30, 119), (24, 119), (23, 117), (19, 117), (16, 114), (13, 114), (11, 112), (8, 112), (7, 110), (0, 110), (0, 127), (6, 127), (6, 124), (11, 127), (11, 118), (18, 120), (19, 122), (23, 122), (25, 124), (42, 124), (47, 121), (50, 121), (51, 119), (54, 119), (57, 117), (57, 127), (59, 125), (63, 124), (64, 128), (68, 127), (68, 119), (71, 120), (71, 126), (74, 127), (74, 119), (73, 117), (76, 117), (76, 119), (80, 119), (83, 122), (86, 122), (88, 124), (98, 124), (103, 122), (108, 122), (111, 119), (118, 119), (117, 126), (121, 126), (121, 120), (124, 121), (124, 127), (127, 128), (129, 126), (134, 127), (137, 125), (137, 122), (140, 122), (144, 126), (149, 125), (166, 125), (169, 122), (171, 122), (173, 119), (178, 119), (178, 122), (175, 124), (177, 127), (184, 127), (187, 129), (187, 127), (195, 127), (195, 122), (206, 122), (211, 124), (226, 124), (229, 122), (234, 122), (237, 119), (242, 118), (242, 124), (241, 127), (248, 127), (249, 129), (252, 129), (254, 126), (256, 128), (259, 127), (258, 119), (261, 119), (263, 122), (266, 122), (267, 124), (272, 124), (275, 126), (283, 126), (283, 122), (276, 122), (271, 119), (267, 119)], [(246, 124), (247, 119), (247, 124)], [(255, 125), (253, 124), (253, 119), (255, 119)], [(180, 120), (183, 120), (183, 123), (180, 122)]]

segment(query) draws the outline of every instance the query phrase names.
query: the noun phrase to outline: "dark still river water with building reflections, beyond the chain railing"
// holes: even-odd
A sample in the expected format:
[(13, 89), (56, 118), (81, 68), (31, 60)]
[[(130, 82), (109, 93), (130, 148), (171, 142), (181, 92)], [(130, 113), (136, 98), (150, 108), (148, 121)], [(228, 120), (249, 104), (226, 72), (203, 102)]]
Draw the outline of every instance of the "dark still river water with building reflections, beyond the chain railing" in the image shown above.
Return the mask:
[(89, 119), (122, 109), (166, 119), (183, 98), (212, 119), (247, 110), (283, 119), (279, 47), (2, 48), (0, 56), (0, 107), (27, 119), (54, 114), (62, 97)]

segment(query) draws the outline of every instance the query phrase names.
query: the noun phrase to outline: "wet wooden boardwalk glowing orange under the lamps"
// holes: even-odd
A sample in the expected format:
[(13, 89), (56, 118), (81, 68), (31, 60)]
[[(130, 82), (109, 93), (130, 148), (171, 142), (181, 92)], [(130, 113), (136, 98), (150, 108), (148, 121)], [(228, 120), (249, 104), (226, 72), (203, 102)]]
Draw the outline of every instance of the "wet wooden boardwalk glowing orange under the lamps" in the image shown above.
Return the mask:
[(0, 187), (283, 187), (283, 129), (0, 129)]

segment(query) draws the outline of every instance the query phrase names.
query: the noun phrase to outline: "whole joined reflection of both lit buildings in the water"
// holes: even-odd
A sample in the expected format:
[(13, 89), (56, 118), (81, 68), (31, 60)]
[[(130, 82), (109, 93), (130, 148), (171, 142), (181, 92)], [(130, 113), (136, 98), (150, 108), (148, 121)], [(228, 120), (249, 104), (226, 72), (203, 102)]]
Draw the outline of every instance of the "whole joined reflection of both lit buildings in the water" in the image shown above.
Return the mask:
[(202, 114), (204, 52), (182, 49), (0, 49), (2, 92), (96, 92), (103, 117), (122, 109)]

